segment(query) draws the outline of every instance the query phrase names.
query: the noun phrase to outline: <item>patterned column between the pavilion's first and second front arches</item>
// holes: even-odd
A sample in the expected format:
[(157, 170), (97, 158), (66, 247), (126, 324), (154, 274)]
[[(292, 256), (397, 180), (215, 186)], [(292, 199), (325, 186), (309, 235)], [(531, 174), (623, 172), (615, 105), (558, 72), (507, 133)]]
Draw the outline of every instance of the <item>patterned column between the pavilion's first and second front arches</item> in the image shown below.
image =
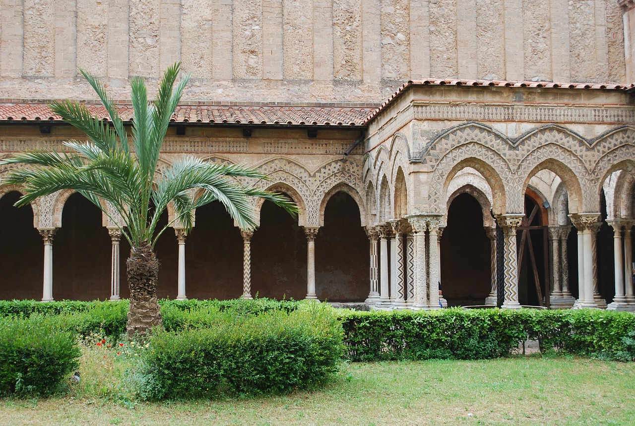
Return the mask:
[(525, 215), (499, 215), (498, 224), (505, 234), (505, 302), (504, 308), (518, 309), (518, 243), (516, 229), (523, 223)]

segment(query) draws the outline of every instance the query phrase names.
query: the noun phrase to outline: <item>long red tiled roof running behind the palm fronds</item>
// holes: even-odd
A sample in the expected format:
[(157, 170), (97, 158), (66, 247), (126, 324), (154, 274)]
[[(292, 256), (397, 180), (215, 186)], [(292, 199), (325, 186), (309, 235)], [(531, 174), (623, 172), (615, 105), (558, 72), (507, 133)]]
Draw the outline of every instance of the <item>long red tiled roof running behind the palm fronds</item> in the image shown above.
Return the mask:
[[(289, 126), (363, 126), (376, 107), (326, 105), (179, 105), (173, 123), (262, 124)], [(375, 104), (376, 105), (376, 104)], [(86, 103), (88, 110), (109, 120), (104, 107)], [(123, 121), (131, 121), (130, 104), (117, 104)], [(60, 121), (46, 102), (0, 102), (0, 121)]]

